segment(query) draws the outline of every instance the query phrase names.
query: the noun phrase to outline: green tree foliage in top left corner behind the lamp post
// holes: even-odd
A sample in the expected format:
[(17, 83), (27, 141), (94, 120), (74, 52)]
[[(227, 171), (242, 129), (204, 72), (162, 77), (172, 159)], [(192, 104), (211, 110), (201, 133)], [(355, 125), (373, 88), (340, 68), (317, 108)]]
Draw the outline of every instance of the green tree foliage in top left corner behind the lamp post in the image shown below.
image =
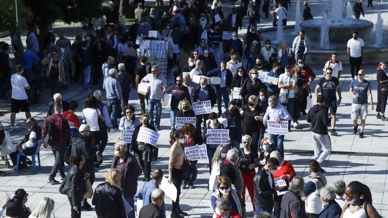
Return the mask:
[[(20, 28), (27, 29), (27, 25), (33, 19), (31, 9), (26, 7), (23, 0), (19, 0)], [(9, 30), (16, 31), (16, 6), (15, 0), (1, 0), (0, 7), (0, 32)]]

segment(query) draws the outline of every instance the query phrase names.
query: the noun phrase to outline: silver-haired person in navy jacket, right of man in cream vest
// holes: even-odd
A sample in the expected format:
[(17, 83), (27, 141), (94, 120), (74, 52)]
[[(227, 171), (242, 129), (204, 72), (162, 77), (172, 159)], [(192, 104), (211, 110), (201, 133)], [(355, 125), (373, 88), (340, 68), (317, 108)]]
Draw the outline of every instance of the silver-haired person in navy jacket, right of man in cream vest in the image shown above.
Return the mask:
[(321, 218), (339, 218), (342, 213), (342, 208), (335, 201), (336, 194), (332, 187), (323, 187), (319, 192), (320, 200), (322, 201), (322, 212), (319, 217)]

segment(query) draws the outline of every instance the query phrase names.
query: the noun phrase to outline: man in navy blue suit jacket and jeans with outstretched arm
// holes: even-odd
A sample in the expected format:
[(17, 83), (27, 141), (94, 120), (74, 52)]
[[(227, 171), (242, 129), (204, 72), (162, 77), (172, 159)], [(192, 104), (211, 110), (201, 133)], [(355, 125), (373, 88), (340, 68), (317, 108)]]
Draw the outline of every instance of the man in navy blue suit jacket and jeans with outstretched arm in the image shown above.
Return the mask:
[(226, 61), (221, 62), (221, 67), (208, 71), (208, 77), (215, 76), (221, 77), (221, 84), (216, 85), (216, 94), (217, 94), (217, 107), (218, 107), (218, 117), (222, 114), (221, 104), (222, 97), (223, 102), (225, 103), (225, 111), (228, 110), (229, 104), (229, 91), (232, 87), (232, 72), (229, 69), (226, 69)]

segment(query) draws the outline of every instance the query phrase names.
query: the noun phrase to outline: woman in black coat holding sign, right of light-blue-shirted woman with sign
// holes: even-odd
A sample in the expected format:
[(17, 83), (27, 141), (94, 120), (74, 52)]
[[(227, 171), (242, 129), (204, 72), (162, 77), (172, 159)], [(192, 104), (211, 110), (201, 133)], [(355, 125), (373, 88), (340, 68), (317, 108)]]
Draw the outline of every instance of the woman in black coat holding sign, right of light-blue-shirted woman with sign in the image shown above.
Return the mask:
[(148, 128), (150, 130), (156, 131), (155, 127), (149, 124), (149, 116), (148, 114), (143, 114), (140, 118), (140, 125), (136, 126), (135, 130), (133, 130), (132, 142), (131, 142), (131, 153), (133, 156), (137, 154), (139, 157), (140, 166), (143, 168), (144, 178), (143, 182), (149, 182), (149, 177), (151, 174), (151, 161), (143, 160), (143, 151), (144, 149), (151, 148), (152, 145), (147, 144), (147, 142), (138, 142), (136, 141), (137, 135), (139, 134), (140, 127)]

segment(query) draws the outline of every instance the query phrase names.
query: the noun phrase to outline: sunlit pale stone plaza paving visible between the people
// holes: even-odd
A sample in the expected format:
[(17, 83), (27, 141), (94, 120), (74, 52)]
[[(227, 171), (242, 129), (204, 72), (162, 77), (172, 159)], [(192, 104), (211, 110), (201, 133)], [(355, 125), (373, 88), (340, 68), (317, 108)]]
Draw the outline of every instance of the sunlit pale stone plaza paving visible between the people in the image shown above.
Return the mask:
[[(366, 1), (365, 1), (366, 2)], [(151, 4), (150, 2), (146, 1)], [(222, 2), (223, 5), (232, 4), (232, 2)], [(376, 8), (388, 9), (388, 2), (380, 3), (374, 1), (374, 9), (366, 9), (365, 19), (372, 21), (372, 13), (376, 15)], [(309, 1), (309, 6), (312, 8), (312, 13), (314, 17), (317, 17), (317, 14), (314, 12), (315, 9), (319, 7), (319, 1)], [(294, 19), (294, 8), (295, 1), (291, 2), (291, 7), (289, 7), (288, 12), (288, 24), (292, 24)], [(301, 7), (303, 9), (303, 7)], [(229, 10), (224, 6), (224, 10)], [(229, 12), (224, 13), (229, 14)], [(384, 23), (388, 21), (386, 19), (387, 12), (383, 12), (382, 17)], [(272, 26), (272, 20), (265, 19), (265, 22), (259, 24), (260, 27)], [(247, 21), (244, 21), (244, 26), (246, 27)], [(76, 34), (79, 34), (80, 27), (56, 27), (54, 32), (59, 30), (65, 31), (65, 36), (74, 39)], [(260, 29), (260, 28), (259, 28)], [(246, 29), (239, 32), (239, 38), (242, 38), (242, 35), (246, 32)], [(275, 37), (275, 35), (274, 35)], [(25, 35), (22, 37), (22, 41), (25, 40)], [(9, 42), (9, 37), (0, 38), (0, 41)], [(11, 57), (13, 55), (11, 54)], [(330, 55), (328, 55), (327, 60), (329, 60)], [(360, 139), (358, 135), (353, 135), (352, 133), (352, 121), (350, 119), (351, 112), (351, 97), (348, 93), (349, 84), (351, 81), (350, 78), (350, 66), (348, 65), (347, 60), (340, 60), (343, 63), (343, 76), (340, 79), (340, 86), (342, 90), (342, 102), (341, 106), (338, 107), (337, 111), (337, 124), (336, 130), (338, 136), (331, 136), (331, 141), (333, 145), (332, 154), (322, 163), (322, 168), (327, 172), (325, 173), (327, 178), (328, 185), (333, 184), (336, 180), (344, 180), (346, 184), (351, 181), (358, 180), (362, 183), (368, 185), (372, 192), (373, 205), (376, 207), (378, 212), (382, 216), (388, 216), (388, 185), (386, 185), (386, 174), (388, 170), (388, 151), (386, 150), (386, 145), (388, 144), (387, 130), (388, 122), (384, 122), (375, 118), (376, 112), (369, 110), (369, 116), (366, 119), (366, 126), (364, 131), (364, 138)], [(376, 60), (376, 63), (379, 60)], [(315, 88), (315, 85), (320, 77), (322, 77), (322, 68), (324, 62), (320, 65), (312, 65), (317, 78), (312, 83), (312, 87)], [(372, 96), (374, 99), (374, 106), (376, 108), (377, 102), (377, 92), (376, 92), (376, 65), (365, 65), (361, 68), (365, 70), (365, 79), (371, 81), (372, 84)], [(88, 93), (84, 93), (82, 87), (79, 84), (71, 83), (69, 84), (68, 90), (62, 90), (62, 96), (64, 100), (77, 100), (80, 107), (78, 108), (76, 114), (81, 117), (81, 109), (84, 103), (85, 97)], [(51, 101), (50, 93), (48, 89), (45, 89), (45, 92), (42, 93), (39, 105), (32, 105), (30, 107), (31, 115), (35, 117), (40, 125), (43, 125), (43, 121), (47, 111), (47, 105)], [(313, 98), (315, 98), (313, 94)], [(139, 112), (140, 104), (137, 97), (136, 90), (132, 90), (130, 93), (129, 104), (135, 106), (136, 112)], [(104, 98), (104, 100), (106, 100)], [(9, 104), (10, 102), (0, 102), (0, 119), (3, 126), (6, 129), (9, 129)], [(217, 108), (217, 107), (214, 107)], [(215, 111), (215, 110), (213, 110)], [(159, 159), (152, 163), (152, 170), (155, 168), (161, 168), (165, 173), (165, 177), (168, 177), (168, 157), (170, 154), (170, 145), (168, 145), (168, 135), (170, 132), (170, 110), (168, 107), (163, 107), (162, 119), (161, 119), (161, 137), (159, 138), (158, 147), (159, 147)], [(24, 121), (24, 114), (19, 113), (16, 116), (16, 128), (17, 131), (12, 133), (11, 136), (14, 141), (20, 142), (24, 137), (24, 134), (27, 132), (27, 127)], [(293, 164), (296, 174), (298, 176), (303, 176), (305, 182), (308, 181), (308, 160), (314, 158), (312, 152), (312, 140), (311, 140), (311, 130), (310, 125), (306, 122), (306, 116), (301, 116), (300, 123), (303, 126), (303, 129), (296, 130), (291, 128), (291, 132), (285, 137), (284, 147), (286, 149), (285, 159), (290, 161)], [(268, 134), (266, 133), (266, 136)], [(93, 185), (95, 188), (99, 183), (105, 181), (105, 176), (111, 164), (113, 158), (113, 144), (117, 141), (117, 138), (121, 137), (121, 132), (119, 130), (112, 130), (109, 133), (109, 142), (104, 151), (104, 163), (98, 168), (96, 172), (96, 182)], [(49, 149), (40, 150), (40, 160), (41, 160), (41, 169), (36, 169), (36, 173), (32, 173), (31, 167), (27, 170), (23, 170), (16, 174), (13, 169), (7, 169), (5, 167), (0, 167), (0, 170), (5, 171), (1, 174), (0, 180), (0, 202), (2, 202), (7, 196), (12, 196), (12, 192), (18, 188), (24, 188), (29, 193), (29, 201), (26, 204), (29, 208), (35, 209), (38, 201), (42, 197), (50, 197), (55, 201), (55, 217), (57, 218), (68, 218), (70, 217), (70, 204), (68, 198), (62, 194), (59, 194), (58, 189), (59, 185), (51, 185), (47, 183), (48, 175), (51, 171), (53, 164), (53, 155)], [(198, 177), (194, 182), (196, 189), (185, 189), (182, 190), (181, 194), (181, 208), (183, 211), (189, 213), (190, 216), (187, 217), (211, 217), (212, 209), (210, 206), (210, 197), (211, 192), (206, 189), (208, 178), (209, 178), (209, 168), (207, 161), (199, 161), (197, 164), (198, 168)], [(68, 166), (66, 166), (66, 172), (68, 171)], [(141, 182), (140, 176), (138, 182), (138, 190), (144, 182)], [(57, 180), (59, 178), (57, 177)], [(7, 194), (5, 193), (7, 192)], [(250, 198), (248, 192), (246, 193), (245, 198), (247, 217), (253, 217), (252, 204), (249, 202)], [(89, 201), (90, 202), (90, 201)], [(166, 197), (166, 213), (167, 217), (170, 217), (171, 211), (171, 199)], [(91, 202), (90, 202), (91, 203)], [(82, 211), (82, 217), (97, 217), (95, 214), (94, 206), (92, 211)]]

